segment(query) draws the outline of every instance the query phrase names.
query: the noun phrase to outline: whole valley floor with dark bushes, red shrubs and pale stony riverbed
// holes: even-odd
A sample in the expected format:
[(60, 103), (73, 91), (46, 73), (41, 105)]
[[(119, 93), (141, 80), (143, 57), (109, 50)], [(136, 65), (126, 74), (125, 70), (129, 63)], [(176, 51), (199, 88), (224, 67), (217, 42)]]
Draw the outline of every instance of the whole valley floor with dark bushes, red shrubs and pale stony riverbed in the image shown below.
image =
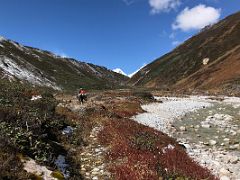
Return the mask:
[(109, 90), (93, 91), (80, 104), (73, 95), (53, 96), (22, 85), (1, 87), (0, 146), (11, 151), (0, 149), (0, 178), (238, 176), (237, 98), (161, 97), (156, 102), (146, 91)]

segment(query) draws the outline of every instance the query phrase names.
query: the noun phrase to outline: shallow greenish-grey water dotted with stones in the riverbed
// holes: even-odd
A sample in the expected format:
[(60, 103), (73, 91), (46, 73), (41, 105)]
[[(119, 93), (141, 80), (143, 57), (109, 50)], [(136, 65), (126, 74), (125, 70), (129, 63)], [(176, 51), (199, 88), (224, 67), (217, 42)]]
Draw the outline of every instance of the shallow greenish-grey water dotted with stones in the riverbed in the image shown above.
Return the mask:
[[(209, 140), (215, 140), (217, 142), (216, 146), (229, 150), (230, 145), (240, 143), (240, 133), (237, 132), (240, 129), (240, 108), (233, 108), (232, 105), (225, 103), (215, 102), (213, 104), (211, 107), (187, 113), (181, 120), (175, 121), (174, 126), (176, 128), (180, 126), (186, 127), (187, 131), (180, 134), (180, 136), (191, 143), (206, 143)], [(201, 122), (214, 114), (227, 114), (232, 116), (233, 120), (228, 123), (229, 127), (227, 128), (220, 128), (219, 126), (201, 127)], [(199, 128), (196, 128), (196, 126), (199, 126)], [(233, 135), (231, 131), (235, 131), (236, 134)], [(179, 138), (179, 134), (173, 136)], [(230, 139), (230, 142), (226, 143), (225, 138)]]

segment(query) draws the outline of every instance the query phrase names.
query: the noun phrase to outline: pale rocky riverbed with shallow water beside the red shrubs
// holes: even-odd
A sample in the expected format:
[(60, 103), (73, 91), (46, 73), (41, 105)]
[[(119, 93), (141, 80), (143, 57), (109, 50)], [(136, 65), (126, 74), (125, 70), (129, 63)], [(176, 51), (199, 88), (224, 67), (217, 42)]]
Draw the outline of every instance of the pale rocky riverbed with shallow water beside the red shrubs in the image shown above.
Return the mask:
[(176, 138), (220, 179), (240, 179), (240, 98), (157, 97), (133, 119)]

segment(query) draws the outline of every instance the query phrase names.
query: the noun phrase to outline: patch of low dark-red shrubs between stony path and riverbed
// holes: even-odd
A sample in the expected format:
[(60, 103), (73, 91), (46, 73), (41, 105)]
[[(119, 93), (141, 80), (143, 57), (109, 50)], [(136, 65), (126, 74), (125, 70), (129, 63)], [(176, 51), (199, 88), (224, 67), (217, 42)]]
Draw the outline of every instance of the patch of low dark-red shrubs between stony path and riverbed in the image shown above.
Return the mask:
[[(103, 145), (110, 147), (107, 158), (112, 162), (110, 171), (116, 179), (215, 179), (207, 169), (195, 163), (174, 139), (132, 120), (108, 121), (98, 138)], [(174, 149), (164, 154), (162, 148), (169, 144)]]

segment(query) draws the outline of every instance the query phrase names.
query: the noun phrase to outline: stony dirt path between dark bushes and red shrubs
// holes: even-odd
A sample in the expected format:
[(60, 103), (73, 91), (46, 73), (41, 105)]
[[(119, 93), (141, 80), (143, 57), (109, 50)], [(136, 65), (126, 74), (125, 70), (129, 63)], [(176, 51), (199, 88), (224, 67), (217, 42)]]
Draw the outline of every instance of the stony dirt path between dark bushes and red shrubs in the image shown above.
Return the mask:
[[(74, 96), (65, 96), (60, 99), (62, 106), (76, 112), (80, 117), (85, 116), (87, 108), (92, 108), (100, 102), (94, 102), (89, 98), (81, 104)], [(93, 127), (89, 137), (86, 139), (87, 146), (84, 146), (80, 153), (81, 174), (84, 179), (111, 179), (111, 174), (107, 171), (108, 164), (105, 161), (107, 149), (98, 142), (98, 133), (101, 131), (100, 123)]]

